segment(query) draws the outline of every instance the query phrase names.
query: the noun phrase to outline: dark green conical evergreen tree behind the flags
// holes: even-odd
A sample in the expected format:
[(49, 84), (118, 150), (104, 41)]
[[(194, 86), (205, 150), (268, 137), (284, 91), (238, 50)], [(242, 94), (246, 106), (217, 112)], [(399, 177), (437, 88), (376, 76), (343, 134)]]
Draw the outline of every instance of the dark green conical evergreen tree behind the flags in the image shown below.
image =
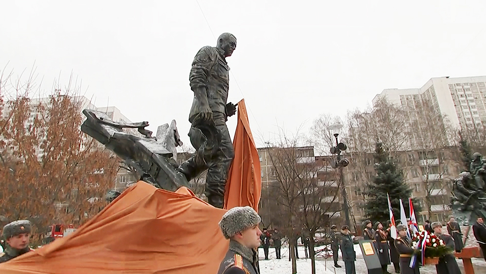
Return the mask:
[[(365, 194), (366, 202), (364, 205), (365, 218), (371, 220), (373, 224), (380, 221), (384, 224), (390, 219), (388, 212), (388, 201), (386, 194), (390, 196), (395, 220), (400, 218), (400, 201), (403, 201), (405, 215), (409, 217), (408, 198), (412, 196), (412, 189), (404, 182), (403, 171), (394, 163), (388, 151), (382, 143), (376, 144), (375, 149), (375, 171), (376, 176), (371, 183), (367, 184)], [(416, 199), (412, 199), (414, 204), (415, 216), (421, 210)]]

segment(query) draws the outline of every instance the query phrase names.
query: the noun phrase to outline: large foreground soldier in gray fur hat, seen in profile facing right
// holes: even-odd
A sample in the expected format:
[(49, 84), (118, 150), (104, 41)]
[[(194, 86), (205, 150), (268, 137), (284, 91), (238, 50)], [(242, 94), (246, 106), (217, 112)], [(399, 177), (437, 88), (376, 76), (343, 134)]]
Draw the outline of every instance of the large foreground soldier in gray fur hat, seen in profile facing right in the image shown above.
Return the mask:
[(221, 262), (218, 274), (258, 274), (258, 256), (255, 249), (260, 246), (261, 219), (249, 206), (233, 207), (219, 222), (229, 250)]

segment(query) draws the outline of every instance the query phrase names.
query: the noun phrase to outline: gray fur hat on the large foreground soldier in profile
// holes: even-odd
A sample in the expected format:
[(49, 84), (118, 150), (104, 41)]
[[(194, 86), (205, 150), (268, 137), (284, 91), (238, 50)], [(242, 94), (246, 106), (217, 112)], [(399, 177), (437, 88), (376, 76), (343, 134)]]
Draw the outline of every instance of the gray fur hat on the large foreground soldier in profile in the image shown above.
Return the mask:
[(259, 224), (260, 216), (250, 206), (237, 206), (228, 210), (219, 222), (219, 227), (226, 239), (242, 232), (248, 227)]

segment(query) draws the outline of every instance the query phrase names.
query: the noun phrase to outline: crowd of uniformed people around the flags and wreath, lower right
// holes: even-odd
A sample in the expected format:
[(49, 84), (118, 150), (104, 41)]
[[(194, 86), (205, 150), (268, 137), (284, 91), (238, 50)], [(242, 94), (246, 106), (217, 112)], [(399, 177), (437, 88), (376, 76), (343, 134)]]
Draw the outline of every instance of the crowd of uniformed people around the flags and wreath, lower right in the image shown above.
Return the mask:
[[(400, 274), (419, 274), (419, 265), (416, 263), (410, 267), (410, 261), (416, 253), (416, 247), (412, 244), (411, 235), (413, 229), (409, 220), (408, 224), (401, 224), (400, 220), (396, 222), (397, 237), (391, 235), (391, 222), (386, 223), (386, 229), (381, 222), (375, 222), (373, 227), (370, 220), (364, 222), (363, 238), (373, 242), (375, 250), (377, 251), (380, 264), (382, 265), (383, 274), (390, 274), (388, 272), (388, 265), (393, 264), (395, 273)], [(449, 222), (446, 223), (448, 233), (442, 231), (442, 223), (425, 221), (424, 230), (428, 233), (439, 237), (446, 246), (455, 252), (461, 252), (463, 244), (463, 234), (459, 224), (455, 221), (453, 216), (449, 217)], [(473, 234), (476, 241), (479, 243), (483, 254), (486, 254), (486, 226), (481, 217), (476, 219), (476, 223), (472, 226)], [(356, 253), (352, 245), (352, 239), (349, 236), (349, 228), (343, 226), (341, 232), (338, 233), (336, 226), (331, 226), (331, 249), (333, 251), (334, 265), (338, 265), (338, 250), (341, 248), (343, 261), (345, 262), (346, 274), (355, 274)], [(486, 258), (485, 258), (486, 260)], [(461, 274), (454, 254), (450, 253), (439, 258), (438, 264), (435, 265), (437, 274)]]

